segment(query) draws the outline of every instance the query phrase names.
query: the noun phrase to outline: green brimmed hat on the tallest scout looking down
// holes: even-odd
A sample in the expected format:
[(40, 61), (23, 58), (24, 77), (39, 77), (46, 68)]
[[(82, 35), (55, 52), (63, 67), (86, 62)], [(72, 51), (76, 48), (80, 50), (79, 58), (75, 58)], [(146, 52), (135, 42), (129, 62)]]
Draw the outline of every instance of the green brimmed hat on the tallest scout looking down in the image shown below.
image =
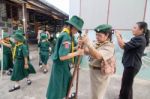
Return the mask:
[(73, 16), (66, 23), (73, 25), (81, 33), (84, 21), (78, 16)]

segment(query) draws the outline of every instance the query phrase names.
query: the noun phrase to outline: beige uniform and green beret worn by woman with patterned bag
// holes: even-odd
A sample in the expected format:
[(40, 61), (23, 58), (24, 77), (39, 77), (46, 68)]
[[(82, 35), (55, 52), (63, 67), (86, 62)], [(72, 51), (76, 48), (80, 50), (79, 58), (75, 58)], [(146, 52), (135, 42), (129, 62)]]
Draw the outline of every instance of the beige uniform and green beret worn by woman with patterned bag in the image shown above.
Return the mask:
[[(111, 29), (109, 25), (100, 25), (95, 30), (97, 33), (105, 32), (105, 30)], [(93, 46), (97, 49), (102, 56), (103, 60), (107, 60), (114, 55), (114, 45), (110, 41), (104, 43), (93, 42)], [(91, 79), (91, 99), (104, 99), (104, 95), (109, 83), (110, 75), (104, 75), (101, 73), (102, 59), (90, 58), (90, 79)]]

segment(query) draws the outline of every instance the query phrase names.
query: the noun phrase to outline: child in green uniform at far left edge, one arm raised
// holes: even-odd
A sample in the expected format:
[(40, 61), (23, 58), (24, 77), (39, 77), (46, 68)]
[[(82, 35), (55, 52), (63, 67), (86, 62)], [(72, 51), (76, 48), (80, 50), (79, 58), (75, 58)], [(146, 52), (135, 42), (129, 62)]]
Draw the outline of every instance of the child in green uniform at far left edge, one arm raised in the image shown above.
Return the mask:
[(10, 36), (7, 33), (3, 33), (3, 40), (0, 40), (0, 44), (3, 45), (3, 70), (7, 72), (7, 75), (11, 75), (13, 68), (12, 59), (12, 42)]

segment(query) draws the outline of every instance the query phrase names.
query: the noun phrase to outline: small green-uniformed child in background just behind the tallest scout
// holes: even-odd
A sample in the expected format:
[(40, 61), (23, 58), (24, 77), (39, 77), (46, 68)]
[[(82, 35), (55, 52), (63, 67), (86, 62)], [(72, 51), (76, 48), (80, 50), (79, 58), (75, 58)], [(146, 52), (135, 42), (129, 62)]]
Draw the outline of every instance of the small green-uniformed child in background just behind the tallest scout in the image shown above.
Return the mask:
[(43, 68), (43, 72), (47, 73), (48, 72), (48, 66), (47, 66), (47, 61), (49, 59), (49, 47), (50, 47), (50, 42), (48, 41), (48, 37), (46, 34), (42, 33), (41, 34), (41, 41), (38, 44), (38, 47), (40, 48), (40, 59), (42, 62), (43, 66), (41, 68)]

